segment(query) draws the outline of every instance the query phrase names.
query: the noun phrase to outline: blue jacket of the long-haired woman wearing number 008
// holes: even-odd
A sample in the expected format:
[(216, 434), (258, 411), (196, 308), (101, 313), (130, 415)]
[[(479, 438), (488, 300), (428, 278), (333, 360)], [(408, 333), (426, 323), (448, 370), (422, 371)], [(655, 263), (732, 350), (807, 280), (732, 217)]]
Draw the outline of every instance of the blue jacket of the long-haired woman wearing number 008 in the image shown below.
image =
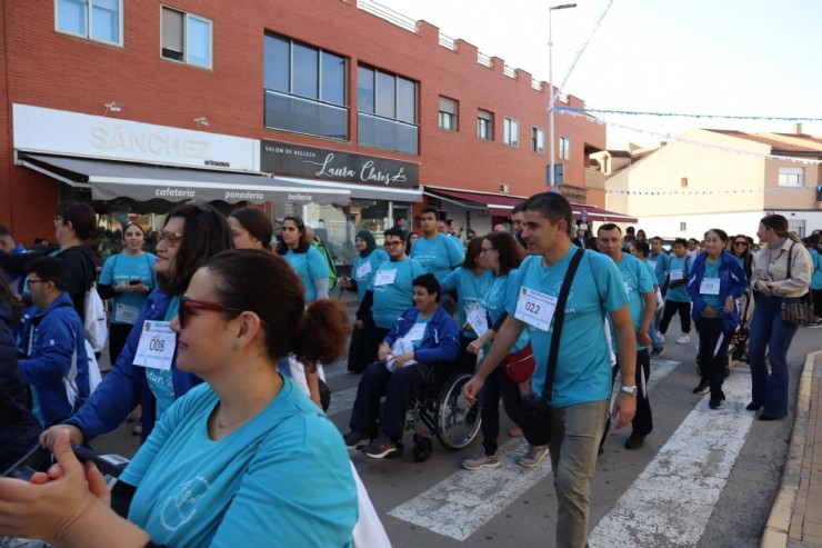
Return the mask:
[[(146, 320), (164, 320), (172, 297), (159, 288), (149, 293), (140, 317), (131, 329), (111, 371), (97, 387), (91, 398), (80, 410), (66, 422), (74, 425), (89, 440), (101, 434), (116, 429), (138, 403), (142, 405), (142, 439), (154, 428), (154, 397), (146, 379), (146, 368), (133, 365), (137, 345)], [(177, 368), (177, 350), (171, 362), (171, 377), (174, 385), (174, 397), (179, 398), (191, 388), (202, 382), (199, 377)]]

